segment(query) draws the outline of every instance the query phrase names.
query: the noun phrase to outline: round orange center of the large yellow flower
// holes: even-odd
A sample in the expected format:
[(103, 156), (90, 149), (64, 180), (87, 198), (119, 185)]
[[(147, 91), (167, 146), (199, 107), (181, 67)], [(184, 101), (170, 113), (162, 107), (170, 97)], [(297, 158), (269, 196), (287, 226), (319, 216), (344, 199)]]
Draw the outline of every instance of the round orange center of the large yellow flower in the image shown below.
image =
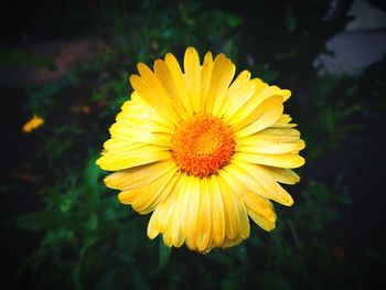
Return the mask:
[(176, 128), (171, 152), (183, 172), (202, 179), (229, 163), (235, 139), (221, 119), (200, 114)]

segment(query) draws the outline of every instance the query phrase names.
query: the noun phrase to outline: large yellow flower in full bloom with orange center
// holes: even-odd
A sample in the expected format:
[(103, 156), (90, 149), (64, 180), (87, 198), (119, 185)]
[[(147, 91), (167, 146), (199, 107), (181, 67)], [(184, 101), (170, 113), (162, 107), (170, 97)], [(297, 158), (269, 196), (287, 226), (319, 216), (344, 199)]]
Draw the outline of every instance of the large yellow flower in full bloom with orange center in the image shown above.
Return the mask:
[(173, 56), (142, 63), (97, 161), (117, 171), (105, 179), (119, 201), (152, 213), (148, 236), (167, 246), (208, 253), (249, 236), (249, 218), (266, 230), (276, 223), (269, 200), (293, 203), (278, 182), (294, 184), (304, 163), (300, 132), (283, 114), (291, 93), (235, 65), (187, 47), (183, 72)]

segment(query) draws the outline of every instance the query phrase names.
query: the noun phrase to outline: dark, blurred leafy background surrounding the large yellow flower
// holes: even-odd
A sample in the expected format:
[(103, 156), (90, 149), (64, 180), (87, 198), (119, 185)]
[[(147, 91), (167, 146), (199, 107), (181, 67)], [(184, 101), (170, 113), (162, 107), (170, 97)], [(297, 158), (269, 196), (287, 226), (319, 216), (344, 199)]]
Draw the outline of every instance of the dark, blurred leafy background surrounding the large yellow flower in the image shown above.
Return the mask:
[[(385, 11), (382, 1), (367, 3)], [(386, 262), (385, 58), (356, 75), (333, 71), (320, 75), (314, 65), (321, 54), (331, 54), (328, 41), (354, 21), (347, 14), (352, 4), (2, 3), (0, 222), (4, 289), (32, 282), (41, 288), (110, 289), (118, 283), (119, 289), (180, 289), (182, 281), (194, 277), (203, 289), (373, 289), (380, 283)], [(384, 33), (380, 40), (385, 40), (385, 28), (366, 33)], [(71, 203), (82, 205), (83, 193), (95, 190), (105, 196), (101, 203), (107, 198), (115, 202), (116, 193), (101, 183), (105, 173), (94, 172), (86, 161), (97, 157), (119, 105), (129, 95), (127, 77), (135, 73), (135, 64), (151, 64), (168, 51), (181, 60), (190, 44), (201, 55), (207, 50), (224, 51), (236, 63), (237, 72), (250, 69), (253, 75), (292, 90), (287, 106), (307, 142), (307, 164), (298, 171), (301, 183), (289, 187), (294, 206), (276, 208), (279, 223), (282, 218), (299, 225), (300, 244), (288, 241), (291, 230), (282, 222), (272, 237), (255, 228), (250, 241), (243, 246), (246, 255), (235, 249), (202, 257), (182, 248), (169, 256), (162, 246), (158, 248), (158, 243), (144, 237), (146, 217), (127, 228), (133, 217), (119, 205), (111, 205), (119, 212), (114, 230), (100, 228), (101, 222), (97, 228), (79, 230), (77, 223), (94, 221), (88, 216), (94, 210), (85, 206), (63, 210), (64, 219), (56, 221), (54, 214), (23, 218), (28, 213), (60, 212), (63, 201), (53, 197), (57, 195), (68, 195)], [(82, 112), (85, 106), (89, 114)], [(41, 131), (25, 135), (21, 128), (34, 112), (46, 123)], [(97, 185), (88, 184), (94, 178)], [(73, 193), (74, 187), (81, 193)], [(336, 195), (342, 201), (335, 200)], [(99, 214), (96, 216), (101, 221)], [(41, 223), (51, 218), (55, 222)], [(73, 222), (68, 225), (68, 221)], [(63, 228), (73, 228), (76, 238), (62, 238)], [(47, 238), (50, 233), (56, 233), (55, 238)], [(127, 233), (138, 237), (126, 240)], [(89, 241), (90, 236), (96, 238)], [(120, 239), (124, 241), (117, 241)], [(282, 245), (281, 251), (274, 247), (277, 244)], [(37, 249), (40, 254), (28, 260)], [(88, 251), (94, 254), (88, 257)], [(110, 259), (117, 253), (130, 258)]]

